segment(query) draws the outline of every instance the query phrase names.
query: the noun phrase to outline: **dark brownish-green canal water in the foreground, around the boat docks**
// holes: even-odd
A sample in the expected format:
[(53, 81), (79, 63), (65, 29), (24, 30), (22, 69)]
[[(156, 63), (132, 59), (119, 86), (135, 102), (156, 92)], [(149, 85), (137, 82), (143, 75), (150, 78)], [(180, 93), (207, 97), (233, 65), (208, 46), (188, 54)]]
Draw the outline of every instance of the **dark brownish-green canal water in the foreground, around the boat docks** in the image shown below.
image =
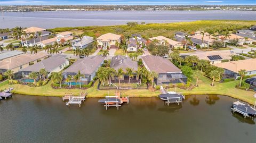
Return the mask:
[(256, 125), (230, 112), (227, 96), (186, 96), (180, 106), (130, 98), (105, 110), (97, 98), (67, 107), (59, 97), (0, 100), (0, 142), (256, 142)]

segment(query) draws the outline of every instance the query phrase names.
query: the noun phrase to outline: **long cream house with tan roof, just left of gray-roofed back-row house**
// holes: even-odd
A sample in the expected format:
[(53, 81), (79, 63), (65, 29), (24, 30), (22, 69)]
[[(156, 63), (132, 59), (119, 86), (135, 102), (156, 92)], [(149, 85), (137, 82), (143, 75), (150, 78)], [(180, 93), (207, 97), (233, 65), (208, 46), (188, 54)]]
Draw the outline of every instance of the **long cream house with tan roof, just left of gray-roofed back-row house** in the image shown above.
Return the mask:
[(56, 35), (54, 38), (42, 40), (42, 47), (45, 47), (46, 45), (53, 45), (55, 41), (60, 44), (61, 40), (63, 39), (64, 43), (67, 43), (68, 40), (73, 39), (73, 33), (71, 32), (61, 32)]

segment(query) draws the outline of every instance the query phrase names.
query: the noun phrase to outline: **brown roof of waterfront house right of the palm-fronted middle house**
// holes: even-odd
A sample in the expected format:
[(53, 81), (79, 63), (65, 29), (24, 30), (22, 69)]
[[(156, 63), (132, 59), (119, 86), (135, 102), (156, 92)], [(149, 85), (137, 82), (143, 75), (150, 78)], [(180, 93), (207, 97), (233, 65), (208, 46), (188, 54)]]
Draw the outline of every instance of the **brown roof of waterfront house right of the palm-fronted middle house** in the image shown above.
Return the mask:
[(181, 70), (166, 58), (152, 55), (142, 56), (141, 58), (142, 61), (146, 64), (145, 66), (150, 71), (155, 71), (157, 73), (181, 73)]

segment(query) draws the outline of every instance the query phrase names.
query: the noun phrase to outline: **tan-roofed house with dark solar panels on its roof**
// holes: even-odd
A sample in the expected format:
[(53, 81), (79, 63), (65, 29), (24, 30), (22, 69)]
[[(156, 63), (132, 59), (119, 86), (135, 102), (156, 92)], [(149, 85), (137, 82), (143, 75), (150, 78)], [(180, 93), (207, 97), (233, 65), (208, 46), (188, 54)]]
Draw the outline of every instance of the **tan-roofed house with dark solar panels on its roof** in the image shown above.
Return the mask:
[[(211, 51), (211, 52), (199, 52), (199, 53), (190, 53), (190, 56), (195, 55), (199, 60), (210, 61), (211, 64), (221, 63), (222, 60), (231, 60), (231, 56), (236, 55), (230, 51)], [(182, 56), (186, 57), (186, 56)]]

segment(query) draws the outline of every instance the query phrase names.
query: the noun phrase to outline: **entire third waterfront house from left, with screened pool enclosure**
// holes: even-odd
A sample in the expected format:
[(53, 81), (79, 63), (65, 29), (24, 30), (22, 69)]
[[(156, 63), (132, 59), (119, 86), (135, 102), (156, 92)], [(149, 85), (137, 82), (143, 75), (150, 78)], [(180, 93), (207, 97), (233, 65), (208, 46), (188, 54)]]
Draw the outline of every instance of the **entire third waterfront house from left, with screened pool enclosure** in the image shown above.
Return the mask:
[(74, 76), (81, 72), (84, 75), (81, 78), (81, 82), (83, 84), (88, 84), (96, 75), (96, 72), (103, 64), (105, 57), (100, 55), (85, 57), (81, 60), (77, 60), (74, 64), (70, 65), (66, 70), (63, 71), (62, 75), (65, 79), (67, 79), (68, 75)]

